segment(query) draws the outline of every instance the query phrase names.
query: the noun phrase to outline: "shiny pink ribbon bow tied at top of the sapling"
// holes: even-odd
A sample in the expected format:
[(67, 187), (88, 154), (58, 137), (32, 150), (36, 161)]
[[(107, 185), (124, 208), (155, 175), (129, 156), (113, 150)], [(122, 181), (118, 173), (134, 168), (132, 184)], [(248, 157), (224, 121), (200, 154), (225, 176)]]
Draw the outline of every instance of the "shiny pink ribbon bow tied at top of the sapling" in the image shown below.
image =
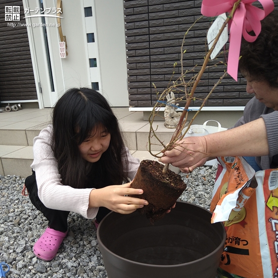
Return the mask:
[[(256, 0), (242, 0), (239, 7), (230, 20), (229, 54), (227, 73), (238, 80), (238, 67), (240, 57), (241, 38), (253, 42), (261, 31), (261, 20), (274, 10), (272, 0), (258, 0), (263, 9), (252, 6)], [(237, 0), (203, 0), (201, 13), (207, 17), (215, 17), (223, 13), (230, 13)], [(229, 22), (230, 22), (229, 21)], [(255, 36), (248, 34), (254, 31)]]

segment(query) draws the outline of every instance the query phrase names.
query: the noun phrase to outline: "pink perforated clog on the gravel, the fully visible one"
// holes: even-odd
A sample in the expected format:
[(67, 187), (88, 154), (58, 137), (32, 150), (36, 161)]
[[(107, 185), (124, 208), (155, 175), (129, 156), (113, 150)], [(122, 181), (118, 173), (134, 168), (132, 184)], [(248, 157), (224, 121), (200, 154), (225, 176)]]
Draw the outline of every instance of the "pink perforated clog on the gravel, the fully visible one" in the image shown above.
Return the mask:
[(67, 234), (68, 231), (63, 233), (48, 227), (34, 245), (33, 252), (36, 257), (43, 261), (51, 261)]

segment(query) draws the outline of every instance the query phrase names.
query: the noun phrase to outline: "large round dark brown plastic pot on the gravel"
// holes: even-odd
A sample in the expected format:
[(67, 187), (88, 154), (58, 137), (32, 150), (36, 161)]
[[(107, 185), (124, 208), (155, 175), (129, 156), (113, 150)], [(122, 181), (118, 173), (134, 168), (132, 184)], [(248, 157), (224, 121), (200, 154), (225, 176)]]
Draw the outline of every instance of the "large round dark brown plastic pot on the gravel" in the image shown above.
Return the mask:
[(226, 233), (211, 216), (185, 202), (154, 224), (136, 212), (110, 212), (97, 230), (108, 277), (215, 278)]

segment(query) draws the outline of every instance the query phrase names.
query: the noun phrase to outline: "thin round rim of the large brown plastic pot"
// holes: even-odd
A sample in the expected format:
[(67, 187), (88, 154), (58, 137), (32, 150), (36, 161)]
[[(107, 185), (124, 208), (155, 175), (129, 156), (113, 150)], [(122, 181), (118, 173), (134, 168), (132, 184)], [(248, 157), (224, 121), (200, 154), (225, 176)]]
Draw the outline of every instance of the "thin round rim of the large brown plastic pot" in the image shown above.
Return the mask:
[[(183, 201), (177, 201), (177, 202), (178, 202), (178, 203), (186, 203), (186, 204), (189, 204), (189, 205), (193, 205), (193, 206), (196, 206), (196, 207), (198, 207), (198, 208), (201, 208), (201, 209), (203, 209), (203, 210), (205, 210), (205, 211), (211, 213), (209, 210), (207, 210), (207, 209), (205, 209), (205, 208), (202, 208), (202, 207), (200, 207), (200, 206), (197, 206), (197, 205), (195, 205), (195, 204), (189, 203), (189, 202), (183, 202)], [(110, 213), (108, 213), (108, 214), (103, 218), (103, 220), (104, 220), (106, 217), (108, 217), (108, 215), (112, 214), (113, 212), (114, 212), (114, 211), (111, 211)], [(114, 212), (114, 213), (116, 213), (116, 212)], [(211, 213), (211, 215), (212, 215), (212, 213)], [(217, 222), (217, 223), (220, 223), (220, 224), (221, 224), (221, 226), (222, 226), (222, 231), (223, 231), (223, 235), (226, 234), (224, 224), (223, 224), (222, 222)], [(203, 261), (203, 260), (207, 259), (209, 256), (211, 256), (211, 255), (217, 253), (217, 252), (218, 252), (219, 246), (224, 246), (224, 243), (225, 243), (225, 241), (226, 241), (226, 237), (223, 237), (223, 240), (221, 241), (221, 243), (220, 243), (220, 244), (217, 246), (217, 248), (214, 249), (211, 253), (207, 254), (206, 256), (204, 256), (204, 257), (202, 257), (202, 258), (200, 258), (200, 259), (197, 259), (197, 260), (194, 260), (194, 261), (191, 261), (191, 262), (179, 263), (179, 264), (168, 264), (168, 265), (162, 265), (162, 264), (148, 264), (148, 263), (142, 263), (142, 262), (136, 262), (136, 261), (128, 260), (128, 259), (126, 259), (126, 258), (124, 258), (124, 257), (121, 257), (121, 256), (115, 254), (115, 253), (112, 252), (111, 250), (109, 250), (109, 249), (103, 244), (103, 242), (102, 242), (101, 239), (100, 239), (100, 227), (101, 227), (101, 224), (102, 224), (102, 221), (100, 222), (99, 227), (98, 227), (98, 229), (97, 229), (97, 239), (98, 239), (98, 242), (101, 243), (101, 245), (103, 246), (103, 248), (106, 249), (106, 252), (110, 252), (110, 253), (113, 254), (115, 257), (117, 257), (118, 259), (124, 260), (125, 262), (128, 262), (128, 263), (135, 263), (135, 264), (137, 264), (137, 265), (149, 266), (149, 267), (163, 267), (163, 268), (169, 268), (169, 267), (177, 267), (177, 266), (178, 266), (178, 267), (179, 267), (179, 266), (181, 267), (181, 266), (190, 265), (190, 264), (193, 264), (193, 263), (195, 264), (196, 262), (198, 262), (198, 261)], [(223, 249), (223, 251), (224, 251), (224, 249)]]

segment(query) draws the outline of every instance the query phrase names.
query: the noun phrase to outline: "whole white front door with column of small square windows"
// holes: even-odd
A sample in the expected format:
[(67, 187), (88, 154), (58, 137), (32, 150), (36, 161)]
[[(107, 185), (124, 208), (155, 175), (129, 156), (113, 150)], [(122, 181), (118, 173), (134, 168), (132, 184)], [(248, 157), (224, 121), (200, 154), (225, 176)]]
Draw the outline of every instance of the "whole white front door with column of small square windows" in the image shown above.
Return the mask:
[[(122, 0), (64, 0), (61, 26), (56, 0), (23, 0), (39, 107), (53, 107), (71, 87), (92, 87), (114, 107), (128, 106)], [(36, 12), (37, 11), (37, 12)], [(60, 58), (59, 31), (67, 40)]]

